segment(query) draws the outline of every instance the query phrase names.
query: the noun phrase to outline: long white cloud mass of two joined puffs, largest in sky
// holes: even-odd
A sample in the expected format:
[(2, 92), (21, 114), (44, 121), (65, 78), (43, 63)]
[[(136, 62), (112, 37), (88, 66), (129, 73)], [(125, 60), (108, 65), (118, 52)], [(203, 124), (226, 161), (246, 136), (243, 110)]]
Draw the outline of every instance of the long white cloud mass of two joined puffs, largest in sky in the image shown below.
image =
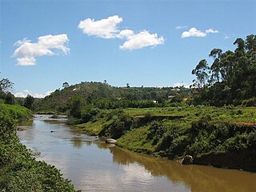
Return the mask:
[(158, 34), (150, 34), (147, 30), (143, 30), (138, 34), (134, 30), (119, 30), (118, 24), (121, 22), (122, 18), (118, 15), (98, 21), (86, 18), (79, 22), (78, 28), (89, 36), (124, 39), (125, 42), (122, 46), (119, 46), (122, 50), (136, 50), (146, 46), (156, 46), (164, 43), (164, 38), (158, 38)]

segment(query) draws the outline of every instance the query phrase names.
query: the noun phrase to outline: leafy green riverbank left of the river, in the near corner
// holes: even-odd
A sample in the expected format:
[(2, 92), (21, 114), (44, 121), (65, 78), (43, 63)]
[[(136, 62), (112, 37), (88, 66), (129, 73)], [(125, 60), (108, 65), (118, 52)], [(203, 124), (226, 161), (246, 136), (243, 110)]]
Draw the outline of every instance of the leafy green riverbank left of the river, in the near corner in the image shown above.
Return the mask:
[(19, 142), (16, 124), (32, 118), (22, 106), (0, 103), (0, 190), (1, 191), (75, 191), (70, 180)]

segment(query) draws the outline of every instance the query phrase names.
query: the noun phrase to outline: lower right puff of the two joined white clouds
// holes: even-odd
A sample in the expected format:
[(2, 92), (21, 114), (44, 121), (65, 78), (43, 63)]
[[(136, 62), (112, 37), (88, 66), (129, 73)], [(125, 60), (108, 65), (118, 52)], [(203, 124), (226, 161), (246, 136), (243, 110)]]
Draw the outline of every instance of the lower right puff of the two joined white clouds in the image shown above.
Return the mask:
[(150, 34), (144, 30), (139, 34), (131, 35), (128, 40), (119, 46), (121, 50), (136, 50), (146, 46), (156, 46), (164, 43), (164, 38), (159, 37), (158, 34)]

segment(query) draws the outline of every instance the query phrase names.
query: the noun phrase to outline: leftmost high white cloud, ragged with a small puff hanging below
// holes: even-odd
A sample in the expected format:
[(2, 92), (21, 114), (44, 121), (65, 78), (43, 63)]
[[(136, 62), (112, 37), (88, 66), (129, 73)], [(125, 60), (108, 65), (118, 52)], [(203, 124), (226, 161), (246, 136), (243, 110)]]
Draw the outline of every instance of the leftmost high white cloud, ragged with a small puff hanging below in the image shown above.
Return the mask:
[(34, 66), (38, 57), (54, 55), (59, 52), (68, 54), (70, 51), (66, 46), (68, 41), (66, 34), (48, 34), (39, 37), (38, 42), (31, 42), (24, 38), (14, 43), (14, 46), (18, 46), (14, 51), (14, 57), (17, 57), (18, 66)]

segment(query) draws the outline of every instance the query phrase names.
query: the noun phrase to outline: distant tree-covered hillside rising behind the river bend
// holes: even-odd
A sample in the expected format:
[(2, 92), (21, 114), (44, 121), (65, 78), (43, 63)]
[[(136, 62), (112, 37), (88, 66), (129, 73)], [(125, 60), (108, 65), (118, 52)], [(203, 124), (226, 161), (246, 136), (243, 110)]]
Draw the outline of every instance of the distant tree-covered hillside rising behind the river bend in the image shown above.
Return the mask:
[(190, 90), (184, 87), (115, 87), (102, 82), (81, 82), (66, 88), (55, 90), (46, 98), (35, 102), (35, 110), (58, 110), (64, 112), (70, 98), (81, 96), (89, 104), (101, 101), (157, 101), (164, 102), (170, 96), (184, 96)]

